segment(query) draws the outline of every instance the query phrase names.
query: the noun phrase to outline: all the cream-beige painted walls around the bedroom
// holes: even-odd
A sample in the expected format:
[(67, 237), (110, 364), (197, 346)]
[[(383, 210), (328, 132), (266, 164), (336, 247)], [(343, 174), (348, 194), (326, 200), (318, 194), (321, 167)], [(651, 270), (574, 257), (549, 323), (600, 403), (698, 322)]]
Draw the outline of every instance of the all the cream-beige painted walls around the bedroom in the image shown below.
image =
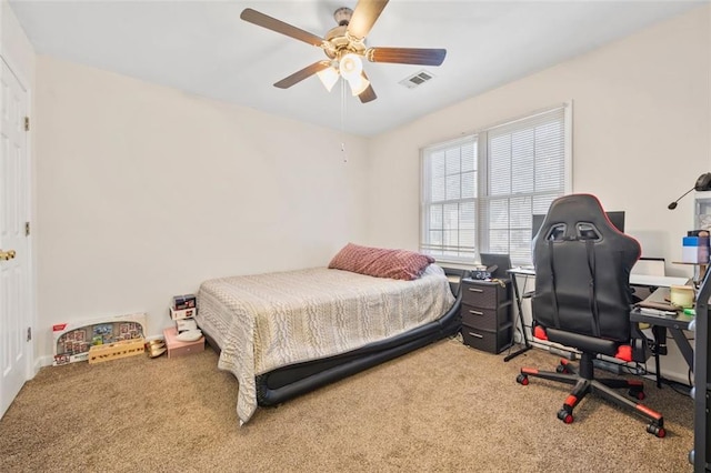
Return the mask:
[(18, 48), (37, 76), (40, 356), (58, 322), (146, 311), (158, 334), (169, 298), (207, 278), (324, 264), (349, 240), (415, 249), (419, 149), (554, 103), (574, 103), (574, 190), (625, 210), (650, 255), (680, 256), (692, 199), (667, 204), (711, 171), (708, 7), (378, 138), (350, 137), (348, 163), (339, 133), (36, 58), (13, 18), (8, 40), (2, 7), (3, 51)]

